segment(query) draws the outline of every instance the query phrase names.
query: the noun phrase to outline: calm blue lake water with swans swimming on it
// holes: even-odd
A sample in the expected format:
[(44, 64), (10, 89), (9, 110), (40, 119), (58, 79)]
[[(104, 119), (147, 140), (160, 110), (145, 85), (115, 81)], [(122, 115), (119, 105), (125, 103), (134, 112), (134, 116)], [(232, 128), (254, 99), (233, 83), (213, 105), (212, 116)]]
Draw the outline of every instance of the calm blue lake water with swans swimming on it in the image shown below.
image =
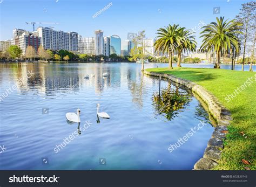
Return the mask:
[[(26, 78), (28, 71), (35, 74)], [(110, 76), (102, 77), (104, 72)], [(172, 120), (156, 114), (152, 97), (159, 80), (143, 76), (139, 64), (0, 64), (0, 94), (19, 81), (0, 102), (0, 146), (6, 149), (0, 169), (191, 170), (213, 131), (199, 101), (165, 80), (161, 89), (178, 89), (191, 100)], [(110, 119), (97, 121), (97, 103)], [(80, 135), (78, 124), (65, 119), (77, 108)], [(206, 126), (169, 153), (170, 144), (200, 120)]]

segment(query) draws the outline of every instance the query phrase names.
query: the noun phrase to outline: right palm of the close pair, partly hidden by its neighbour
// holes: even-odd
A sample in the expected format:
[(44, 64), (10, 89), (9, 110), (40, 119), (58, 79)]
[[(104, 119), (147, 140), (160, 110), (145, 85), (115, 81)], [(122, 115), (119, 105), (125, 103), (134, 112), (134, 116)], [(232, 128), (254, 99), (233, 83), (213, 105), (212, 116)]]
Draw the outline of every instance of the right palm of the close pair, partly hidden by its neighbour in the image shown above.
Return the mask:
[(181, 54), (183, 52), (195, 52), (197, 47), (197, 42), (195, 40), (195, 36), (192, 36), (190, 30), (185, 30), (185, 27), (179, 28), (179, 33), (181, 34), (181, 44), (177, 47), (178, 52), (178, 63), (177, 66), (181, 67)]

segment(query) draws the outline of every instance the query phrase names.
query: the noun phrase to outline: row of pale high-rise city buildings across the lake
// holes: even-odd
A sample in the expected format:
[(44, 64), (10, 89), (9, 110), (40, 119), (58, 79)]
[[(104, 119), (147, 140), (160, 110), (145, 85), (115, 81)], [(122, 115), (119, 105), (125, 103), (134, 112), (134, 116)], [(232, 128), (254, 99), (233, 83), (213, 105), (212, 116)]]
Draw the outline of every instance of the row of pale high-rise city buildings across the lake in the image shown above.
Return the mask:
[[(14, 29), (10, 40), (0, 42), (0, 51), (5, 51), (10, 45), (17, 45), (25, 55), (29, 45), (37, 51), (42, 44), (44, 49), (53, 51), (67, 50), (79, 54), (105, 55), (107, 57), (113, 53), (121, 55), (124, 49), (122, 49), (119, 36), (113, 34), (104, 37), (102, 30), (95, 30), (94, 33), (94, 37), (83, 37), (77, 32), (57, 31), (52, 27), (38, 27), (33, 32)], [(132, 43), (131, 40), (129, 41)], [(127, 55), (130, 53), (131, 45), (129, 45)]]

